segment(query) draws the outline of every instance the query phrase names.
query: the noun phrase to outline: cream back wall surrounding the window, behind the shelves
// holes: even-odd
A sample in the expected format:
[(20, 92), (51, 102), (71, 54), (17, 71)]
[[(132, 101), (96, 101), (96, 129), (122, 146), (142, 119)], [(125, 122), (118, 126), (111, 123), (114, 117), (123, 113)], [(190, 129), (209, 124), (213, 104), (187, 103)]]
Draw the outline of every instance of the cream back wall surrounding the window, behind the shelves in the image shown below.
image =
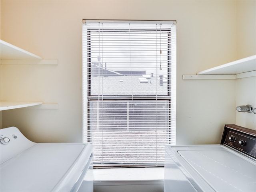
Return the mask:
[(182, 80), (182, 74), (239, 57), (237, 12), (236, 1), (218, 0), (1, 0), (1, 39), (58, 59), (58, 66), (2, 65), (1, 98), (59, 106), (4, 111), (2, 127), (17, 126), (34, 142), (81, 142), (82, 19), (177, 20), (177, 144), (218, 143), (224, 124), (236, 123), (235, 80)]

